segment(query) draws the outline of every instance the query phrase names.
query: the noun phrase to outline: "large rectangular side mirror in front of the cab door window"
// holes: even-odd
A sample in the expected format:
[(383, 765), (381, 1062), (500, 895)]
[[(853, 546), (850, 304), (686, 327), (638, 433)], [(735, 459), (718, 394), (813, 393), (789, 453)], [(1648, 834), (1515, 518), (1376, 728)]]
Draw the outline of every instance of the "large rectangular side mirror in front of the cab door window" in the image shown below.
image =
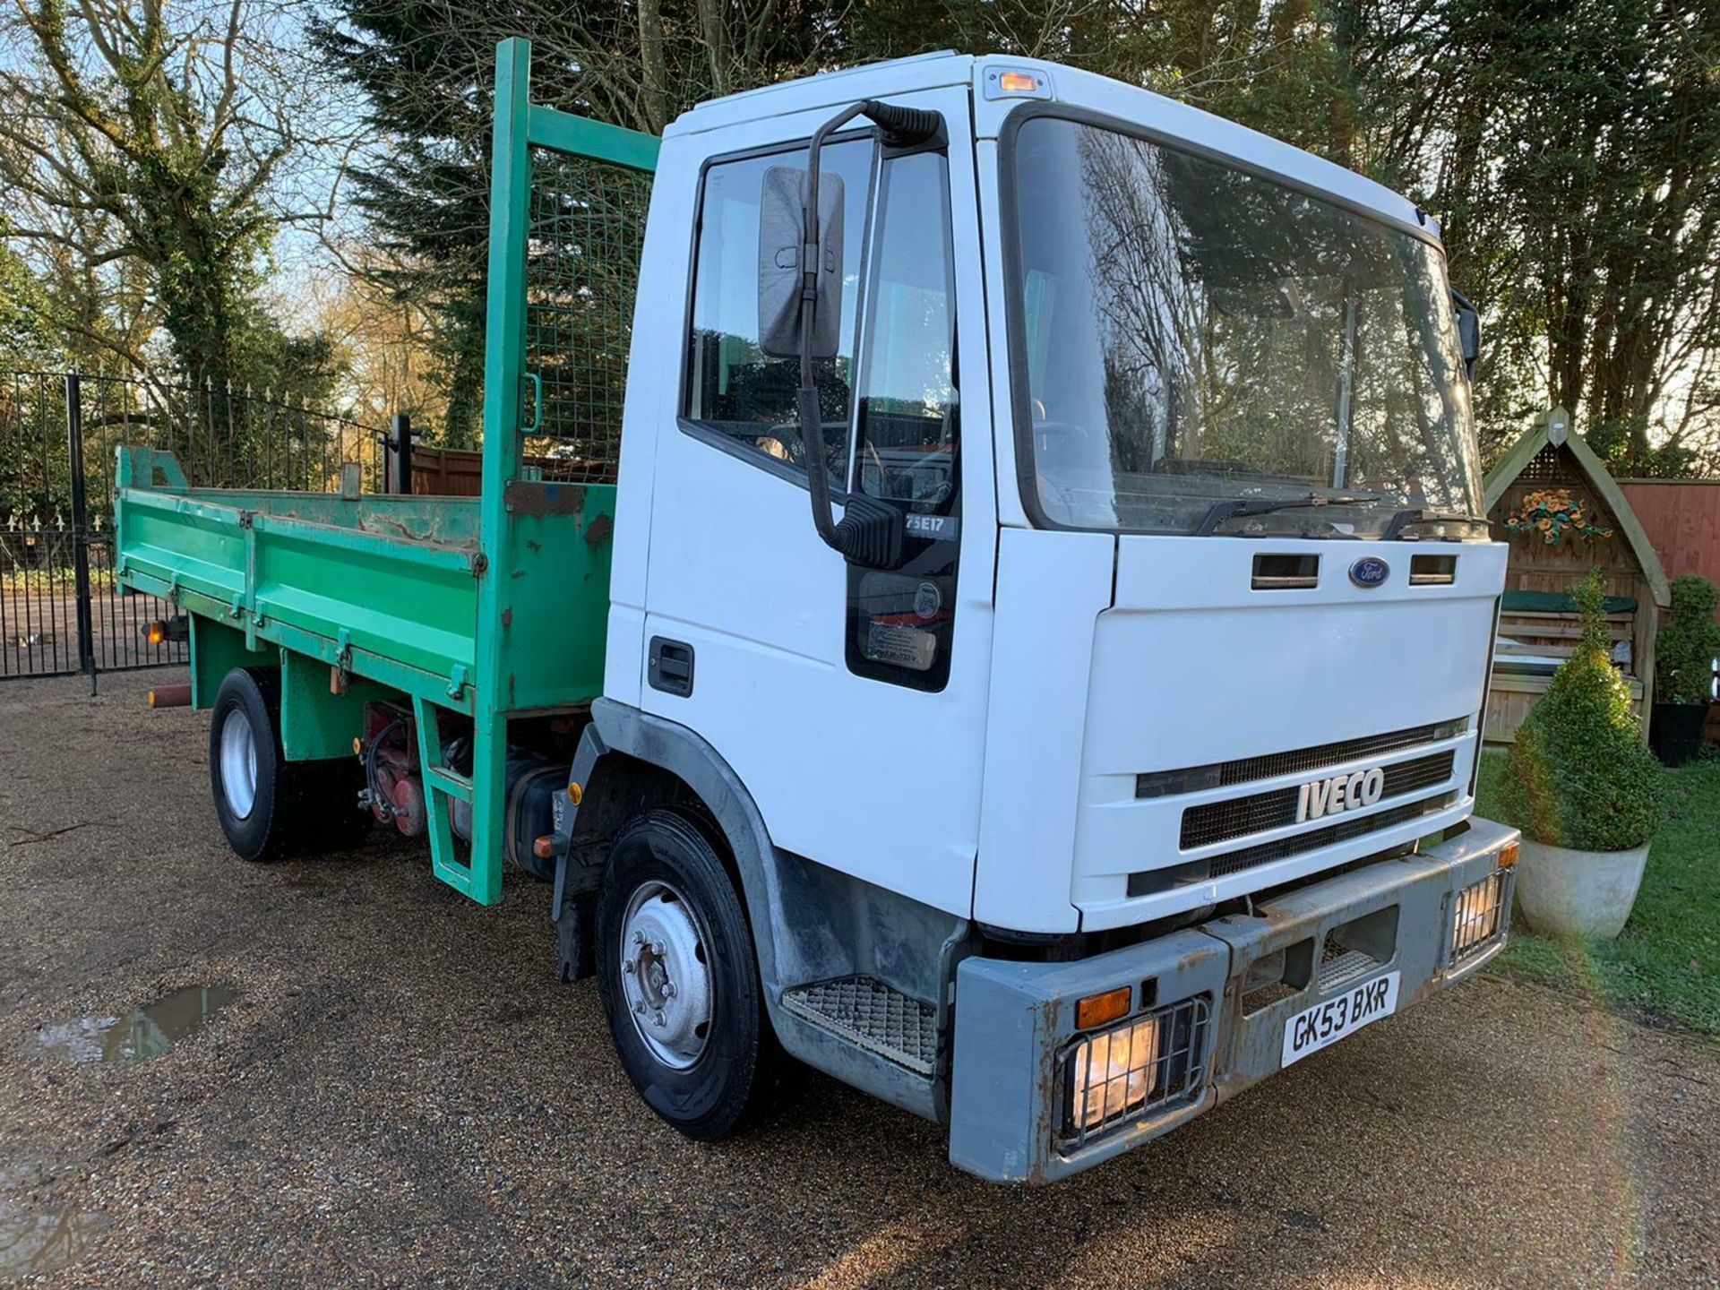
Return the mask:
[[(772, 165), (759, 194), (759, 347), (767, 358), (800, 358), (802, 230), (807, 172)], [(819, 177), (819, 289), (812, 303), (812, 353), (836, 358), (843, 329), (843, 177)]]

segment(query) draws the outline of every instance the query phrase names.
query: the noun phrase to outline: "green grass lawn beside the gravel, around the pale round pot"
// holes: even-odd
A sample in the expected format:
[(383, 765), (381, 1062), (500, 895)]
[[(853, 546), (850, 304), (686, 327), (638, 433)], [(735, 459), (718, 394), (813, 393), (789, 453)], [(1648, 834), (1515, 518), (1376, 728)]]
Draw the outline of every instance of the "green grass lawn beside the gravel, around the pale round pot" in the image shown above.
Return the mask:
[[(1481, 759), (1481, 815), (1498, 810), (1503, 769), (1505, 753)], [(1720, 1035), (1720, 760), (1662, 774), (1667, 820), (1648, 850), (1643, 891), (1624, 934), (1560, 943), (1515, 918), (1512, 943), (1495, 967)]]

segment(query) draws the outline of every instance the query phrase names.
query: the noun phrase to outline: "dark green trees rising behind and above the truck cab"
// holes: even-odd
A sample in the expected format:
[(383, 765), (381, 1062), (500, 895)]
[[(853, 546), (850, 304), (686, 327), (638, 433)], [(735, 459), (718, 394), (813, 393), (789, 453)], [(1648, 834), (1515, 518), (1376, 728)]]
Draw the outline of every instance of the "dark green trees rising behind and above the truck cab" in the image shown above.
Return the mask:
[[(1483, 445), (1576, 408), (1620, 473), (1720, 470), (1720, 9), (1658, 0), (335, 0), (318, 40), (387, 148), (353, 191), (437, 318), (449, 439), (476, 432), (494, 41), (540, 101), (643, 131), (717, 93), (927, 50), (1020, 53), (1142, 84), (1407, 189), (1486, 315)], [(1694, 359), (1692, 359), (1694, 361)], [(1689, 366), (1689, 365), (1687, 365)], [(1708, 365), (1713, 366), (1711, 363)], [(1668, 390), (1692, 415), (1675, 416)], [(1593, 440), (1591, 440), (1593, 442)]]

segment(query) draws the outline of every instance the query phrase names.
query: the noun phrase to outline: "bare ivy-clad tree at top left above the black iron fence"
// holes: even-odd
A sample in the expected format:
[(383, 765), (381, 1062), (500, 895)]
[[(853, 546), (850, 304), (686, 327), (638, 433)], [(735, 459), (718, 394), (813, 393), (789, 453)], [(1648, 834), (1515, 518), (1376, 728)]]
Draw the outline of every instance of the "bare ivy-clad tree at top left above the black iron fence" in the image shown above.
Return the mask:
[[(292, 167), (313, 143), (287, 10), (265, 0), (14, 0), (0, 28), (0, 234), (62, 287), (57, 323), (146, 375), (217, 385), (273, 234), (327, 218)], [(296, 208), (277, 198), (289, 191)], [(108, 306), (120, 303), (119, 320)]]

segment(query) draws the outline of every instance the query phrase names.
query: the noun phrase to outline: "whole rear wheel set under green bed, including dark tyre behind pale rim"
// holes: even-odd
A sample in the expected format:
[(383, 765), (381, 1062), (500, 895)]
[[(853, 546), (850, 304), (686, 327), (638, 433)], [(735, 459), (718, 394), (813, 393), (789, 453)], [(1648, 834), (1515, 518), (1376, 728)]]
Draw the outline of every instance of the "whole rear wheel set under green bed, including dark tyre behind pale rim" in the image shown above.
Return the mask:
[(210, 791), (227, 845), (243, 860), (356, 846), (370, 832), (358, 810), (356, 759), (289, 762), (280, 750), (280, 673), (236, 667), (210, 712)]

